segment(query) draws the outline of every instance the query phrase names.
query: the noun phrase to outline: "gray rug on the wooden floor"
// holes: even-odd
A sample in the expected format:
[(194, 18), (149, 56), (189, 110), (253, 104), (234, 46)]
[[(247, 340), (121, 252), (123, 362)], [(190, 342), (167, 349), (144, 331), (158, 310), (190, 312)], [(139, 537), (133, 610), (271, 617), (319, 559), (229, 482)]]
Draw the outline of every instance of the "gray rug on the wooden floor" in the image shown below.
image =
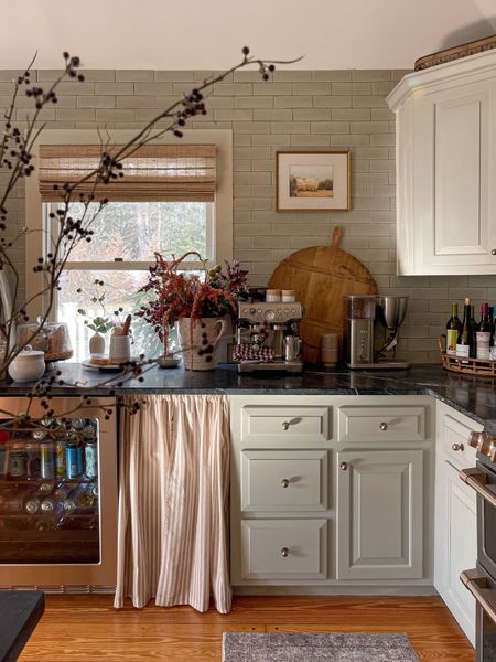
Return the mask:
[(406, 634), (224, 632), (223, 662), (419, 662)]

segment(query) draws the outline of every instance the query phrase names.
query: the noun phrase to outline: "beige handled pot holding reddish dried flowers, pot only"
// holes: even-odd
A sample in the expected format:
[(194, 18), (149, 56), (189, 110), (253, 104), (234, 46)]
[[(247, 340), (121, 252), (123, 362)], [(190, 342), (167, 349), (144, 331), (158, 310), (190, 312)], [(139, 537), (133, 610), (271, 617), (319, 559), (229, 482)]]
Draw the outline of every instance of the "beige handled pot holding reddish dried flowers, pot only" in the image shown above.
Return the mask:
[(183, 318), (179, 321), (179, 340), (186, 370), (215, 370), (216, 348), (227, 329), (222, 318)]

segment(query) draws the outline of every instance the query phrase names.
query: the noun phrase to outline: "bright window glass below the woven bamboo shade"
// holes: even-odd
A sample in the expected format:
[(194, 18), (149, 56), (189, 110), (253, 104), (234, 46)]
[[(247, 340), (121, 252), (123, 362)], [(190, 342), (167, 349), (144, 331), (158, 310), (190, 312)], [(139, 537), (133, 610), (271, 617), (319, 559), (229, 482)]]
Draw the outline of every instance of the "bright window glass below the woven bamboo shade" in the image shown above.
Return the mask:
[[(82, 205), (76, 203), (71, 209), (76, 218), (82, 213), (78, 207)], [(77, 311), (86, 310), (88, 318), (112, 319), (119, 309), (136, 311), (147, 300), (143, 297), (148, 295), (138, 290), (144, 284), (154, 250), (170, 258), (196, 250), (205, 259), (215, 260), (213, 207), (211, 202), (109, 202), (104, 207), (93, 224), (93, 241), (79, 243), (71, 254), (57, 295), (56, 319), (69, 325), (78, 361), (87, 355), (89, 330)], [(51, 209), (47, 205), (46, 211)], [(197, 268), (192, 259), (185, 268)], [(96, 280), (105, 286), (95, 285)], [(91, 301), (103, 292), (104, 302)], [(133, 321), (133, 334), (139, 352), (160, 353), (158, 338), (148, 333), (142, 320)]]

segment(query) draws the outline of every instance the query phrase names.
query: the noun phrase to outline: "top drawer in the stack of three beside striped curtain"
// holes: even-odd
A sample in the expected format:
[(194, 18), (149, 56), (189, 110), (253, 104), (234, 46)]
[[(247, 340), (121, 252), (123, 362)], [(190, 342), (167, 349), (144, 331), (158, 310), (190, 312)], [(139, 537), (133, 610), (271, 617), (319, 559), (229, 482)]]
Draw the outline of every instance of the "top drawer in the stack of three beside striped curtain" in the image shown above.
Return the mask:
[(322, 444), (330, 439), (330, 409), (322, 406), (248, 406), (241, 412), (244, 441)]

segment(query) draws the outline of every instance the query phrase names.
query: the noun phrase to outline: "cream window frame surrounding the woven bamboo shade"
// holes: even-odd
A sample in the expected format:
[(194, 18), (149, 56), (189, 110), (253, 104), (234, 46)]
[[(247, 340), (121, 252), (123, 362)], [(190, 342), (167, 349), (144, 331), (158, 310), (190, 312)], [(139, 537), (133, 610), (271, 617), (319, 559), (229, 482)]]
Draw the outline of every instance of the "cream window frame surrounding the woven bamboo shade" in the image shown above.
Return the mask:
[[(136, 136), (132, 130), (107, 130), (105, 139), (115, 145), (128, 142)], [(158, 131), (153, 131), (157, 134)], [(97, 145), (101, 134), (96, 129), (46, 129), (43, 130), (33, 148), (34, 166), (39, 163), (39, 147), (42, 145)], [(177, 138), (166, 134), (153, 140), (161, 145), (177, 143)], [(218, 264), (224, 259), (233, 259), (233, 132), (228, 129), (191, 129), (185, 130), (183, 145), (216, 145), (217, 146), (217, 190), (215, 202), (211, 205), (214, 223), (207, 223), (207, 246), (211, 249), (211, 263)], [(37, 170), (35, 170), (37, 172)], [(43, 204), (39, 191), (37, 177), (26, 179), (26, 226), (29, 233), (25, 241), (25, 288), (26, 300), (43, 289), (43, 275), (34, 273), (32, 267), (40, 256), (45, 256), (50, 250), (50, 204)], [(53, 203), (56, 204), (56, 203)], [(211, 232), (211, 229), (213, 232)], [(116, 256), (120, 257), (120, 256)], [(95, 271), (147, 271), (152, 265), (149, 261), (73, 261), (67, 264), (66, 270), (95, 270)], [(198, 268), (198, 263), (185, 263), (185, 269)], [(46, 296), (37, 297), (28, 306), (31, 319), (42, 314), (46, 307)], [(57, 302), (55, 300), (51, 311), (51, 319), (55, 319)]]

